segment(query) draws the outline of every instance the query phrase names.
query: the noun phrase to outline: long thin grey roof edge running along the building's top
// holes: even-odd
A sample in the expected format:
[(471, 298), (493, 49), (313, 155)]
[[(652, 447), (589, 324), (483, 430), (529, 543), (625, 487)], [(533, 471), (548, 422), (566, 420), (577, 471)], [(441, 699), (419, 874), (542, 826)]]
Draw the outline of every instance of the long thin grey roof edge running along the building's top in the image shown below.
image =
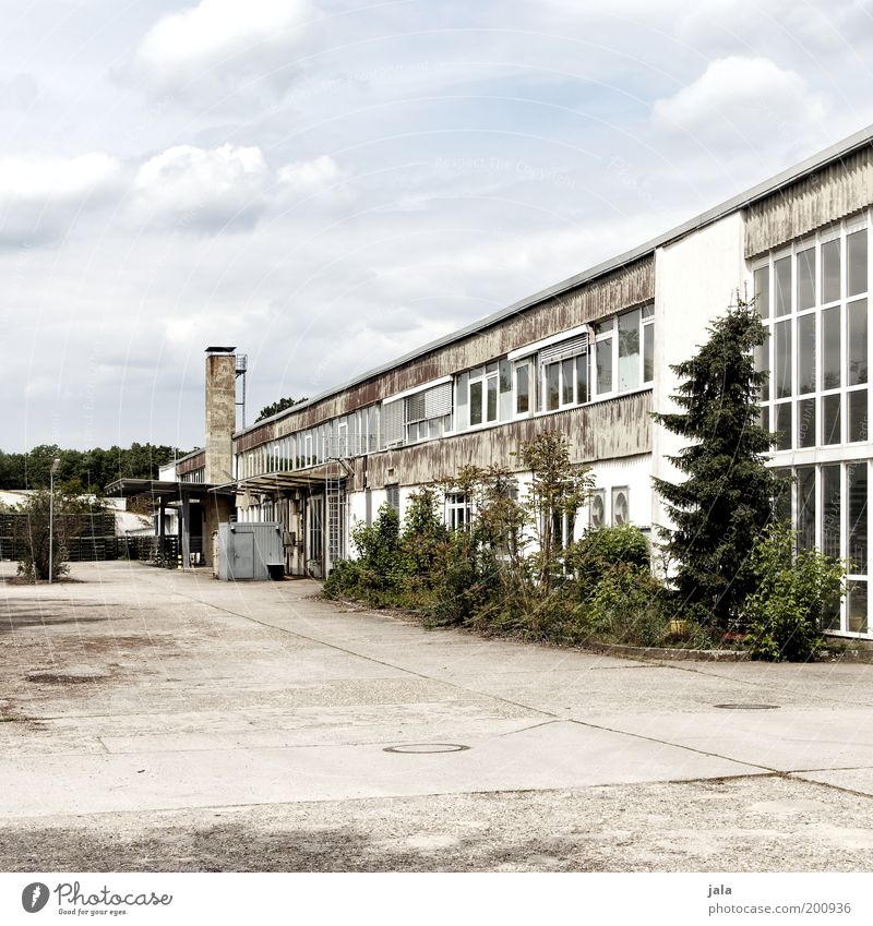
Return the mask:
[(374, 376), (379, 376), (382, 373), (386, 373), (388, 370), (393, 370), (395, 366), (403, 366), (405, 363), (409, 363), (412, 360), (417, 360), (420, 357), (424, 357), (428, 353), (432, 353), (434, 350), (439, 350), (440, 348), (446, 347), (450, 344), (463, 340), (464, 338), (469, 337), (470, 335), (486, 330), (487, 328), (499, 324), (500, 322), (511, 317), (512, 315), (516, 315), (519, 312), (524, 312), (527, 309), (531, 309), (534, 305), (537, 305), (540, 302), (545, 302), (547, 299), (552, 299), (555, 296), (560, 296), (561, 293), (566, 292), (570, 289), (575, 289), (576, 287), (582, 286), (583, 284), (590, 282), (591, 280), (595, 280), (598, 277), (611, 273), (612, 270), (617, 270), (620, 267), (624, 267), (627, 264), (632, 264), (634, 261), (638, 261), (641, 257), (645, 257), (648, 254), (654, 254), (657, 248), (662, 248), (665, 244), (669, 244), (672, 241), (677, 241), (678, 239), (683, 238), (692, 231), (697, 231), (698, 229), (704, 228), (707, 225), (711, 225), (713, 223), (725, 218), (731, 213), (736, 213), (739, 209), (743, 209), (746, 206), (750, 206), (752, 203), (755, 203), (758, 200), (766, 199), (767, 196), (773, 195), (779, 190), (791, 185), (803, 177), (806, 177), (810, 173), (814, 173), (816, 170), (821, 170), (826, 165), (832, 164), (835, 160), (840, 160), (841, 158), (847, 157), (859, 148), (865, 147), (871, 143), (873, 143), (873, 125), (868, 125), (865, 129), (861, 129), (853, 135), (849, 135), (849, 137), (844, 139), (842, 141), (830, 145), (824, 151), (812, 155), (812, 157), (800, 161), (800, 164), (796, 164), (793, 167), (789, 167), (787, 170), (777, 173), (775, 177), (770, 177), (768, 180), (765, 180), (762, 183), (757, 183), (745, 192), (732, 196), (729, 200), (726, 200), (723, 203), (715, 206), (714, 208), (707, 209), (705, 213), (701, 213), (694, 218), (691, 218), (687, 221), (684, 221), (681, 225), (671, 228), (669, 231), (666, 231), (662, 234), (659, 234), (656, 238), (646, 241), (644, 244), (641, 244), (637, 248), (633, 248), (630, 251), (625, 251), (623, 254), (619, 254), (618, 256), (612, 257), (609, 261), (603, 261), (602, 263), (597, 264), (594, 267), (589, 267), (587, 270), (583, 270), (581, 274), (576, 274), (575, 276), (561, 280), (561, 282), (557, 282), (553, 286), (547, 287), (546, 289), (541, 289), (539, 290), (539, 292), (535, 292), (533, 296), (527, 296), (524, 299), (519, 299), (517, 302), (513, 302), (505, 309), (500, 309), (491, 315), (486, 315), (486, 317), (480, 318), (470, 325), (466, 325), (465, 327), (458, 328), (457, 330), (444, 335), (443, 337), (438, 338), (436, 340), (430, 341), (429, 344), (418, 347), (415, 350), (411, 350), (408, 353), (396, 358), (395, 360), (392, 360), (387, 363), (383, 363), (382, 365), (375, 366), (372, 370), (368, 370), (366, 373), (361, 373), (359, 376), (356, 376), (354, 380), (349, 380), (347, 383), (343, 383), (342, 385), (335, 386), (334, 388), (320, 393), (319, 395), (313, 396), (312, 398), (307, 399), (306, 401), (299, 402), (291, 409), (286, 409), (285, 411), (277, 412), (276, 414), (273, 414), (270, 418), (264, 418), (261, 421), (256, 422), (256, 424), (252, 424), (249, 428), (243, 429), (242, 431), (236, 432), (234, 436), (236, 437), (240, 434), (248, 434), (249, 432), (254, 431), (256, 428), (261, 428), (267, 422), (277, 421), (280, 418), (287, 417), (288, 414), (301, 411), (304, 408), (309, 408), (310, 406), (316, 405), (318, 402), (323, 401), (324, 399), (330, 398), (331, 396), (335, 396), (338, 393), (343, 393), (346, 389), (351, 388), (352, 386), (357, 386), (360, 383), (366, 383), (368, 380), (372, 380)]

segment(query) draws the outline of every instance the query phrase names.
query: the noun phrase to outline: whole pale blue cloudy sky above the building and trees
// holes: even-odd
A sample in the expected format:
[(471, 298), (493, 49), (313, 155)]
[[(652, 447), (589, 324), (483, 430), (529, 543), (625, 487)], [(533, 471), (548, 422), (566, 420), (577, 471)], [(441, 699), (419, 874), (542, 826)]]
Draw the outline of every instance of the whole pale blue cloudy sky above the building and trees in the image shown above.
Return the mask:
[[(0, 0), (0, 449), (203, 442), (873, 122), (873, 0)], [(727, 301), (728, 294), (726, 294)]]

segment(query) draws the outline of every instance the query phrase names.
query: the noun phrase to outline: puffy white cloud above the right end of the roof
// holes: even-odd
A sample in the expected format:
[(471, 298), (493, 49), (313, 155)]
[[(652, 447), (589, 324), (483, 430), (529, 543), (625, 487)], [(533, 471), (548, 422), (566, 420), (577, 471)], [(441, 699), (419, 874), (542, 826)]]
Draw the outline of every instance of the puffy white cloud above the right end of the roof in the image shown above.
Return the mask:
[(653, 107), (656, 128), (721, 152), (796, 146), (828, 111), (825, 94), (767, 58), (713, 61), (692, 84)]

